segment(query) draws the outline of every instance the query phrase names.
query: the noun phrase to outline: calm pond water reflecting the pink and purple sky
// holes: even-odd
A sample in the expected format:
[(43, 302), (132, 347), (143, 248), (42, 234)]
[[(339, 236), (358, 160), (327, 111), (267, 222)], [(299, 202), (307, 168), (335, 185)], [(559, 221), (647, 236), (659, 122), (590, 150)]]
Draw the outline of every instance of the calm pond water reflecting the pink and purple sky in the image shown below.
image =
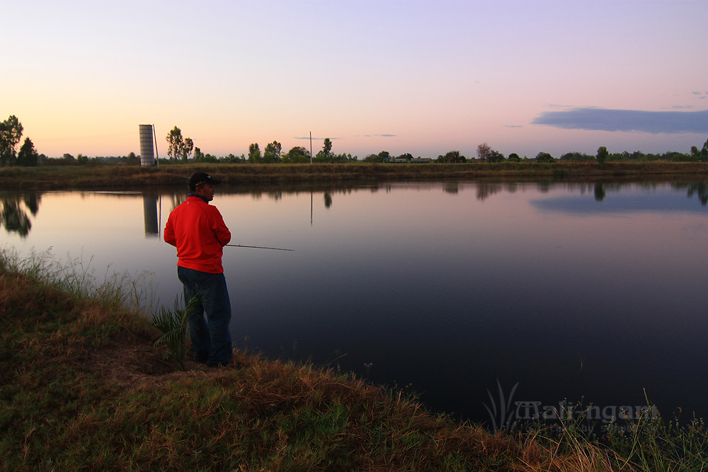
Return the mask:
[[(181, 284), (181, 188), (2, 192), (0, 246)], [(708, 184), (221, 186), (237, 347), (409, 388), (486, 422), (559, 401), (708, 416)], [(108, 267), (108, 269), (107, 269)], [(505, 416), (506, 415), (506, 416)]]

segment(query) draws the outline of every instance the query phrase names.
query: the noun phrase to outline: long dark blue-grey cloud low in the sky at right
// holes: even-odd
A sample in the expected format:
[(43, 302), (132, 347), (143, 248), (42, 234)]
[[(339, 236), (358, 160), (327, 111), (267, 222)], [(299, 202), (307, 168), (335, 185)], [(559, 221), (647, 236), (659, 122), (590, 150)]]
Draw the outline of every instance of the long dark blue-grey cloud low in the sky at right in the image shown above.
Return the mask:
[(652, 134), (705, 133), (708, 132), (708, 110), (642, 111), (581, 107), (544, 112), (535, 117), (532, 123), (562, 129), (638, 131)]

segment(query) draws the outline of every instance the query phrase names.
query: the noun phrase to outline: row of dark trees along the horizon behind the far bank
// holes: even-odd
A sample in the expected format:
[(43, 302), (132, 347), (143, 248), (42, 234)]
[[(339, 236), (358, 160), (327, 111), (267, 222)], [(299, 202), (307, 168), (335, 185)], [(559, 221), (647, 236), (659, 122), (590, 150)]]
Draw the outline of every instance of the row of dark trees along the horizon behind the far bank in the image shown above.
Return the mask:
[[(44, 154), (39, 154), (35, 150), (34, 144), (29, 137), (25, 138), (21, 149), (17, 151), (17, 145), (21, 141), (23, 126), (15, 115), (11, 115), (4, 122), (0, 122), (0, 167), (5, 166), (47, 166), (47, 165), (90, 165), (100, 163), (127, 163), (129, 165), (140, 165), (140, 157), (134, 152), (127, 156), (96, 156), (88, 157), (78, 154), (74, 157), (71, 154), (64, 154), (61, 158), (47, 158)], [(641, 151), (622, 151), (621, 153), (610, 154), (605, 146), (598, 148), (598, 154), (590, 155), (581, 152), (568, 152), (555, 158), (547, 152), (539, 152), (535, 157), (521, 158), (516, 153), (504, 156), (499, 151), (492, 149), (489, 144), (482, 143), (477, 146), (476, 158), (467, 158), (460, 151), (448, 151), (437, 158), (414, 158), (410, 153), (399, 156), (392, 156), (388, 151), (380, 151), (377, 154), (369, 154), (362, 161), (358, 156), (351, 154), (336, 154), (332, 151), (332, 141), (324, 139), (322, 149), (314, 156), (310, 151), (302, 146), (293, 146), (290, 151), (282, 152), (282, 145), (278, 141), (273, 141), (265, 145), (261, 152), (258, 143), (249, 145), (249, 154), (235, 156), (213, 156), (204, 154), (201, 149), (194, 146), (194, 142), (189, 137), (182, 136), (181, 129), (174, 127), (166, 136), (167, 159), (165, 162), (201, 162), (201, 163), (389, 163), (389, 162), (416, 162), (430, 161), (438, 163), (466, 163), (466, 162), (536, 162), (550, 163), (555, 161), (598, 161), (603, 165), (606, 161), (675, 161), (675, 162), (708, 162), (708, 139), (701, 149), (691, 146), (690, 153), (684, 154), (677, 151), (667, 151), (663, 154), (644, 154)]]

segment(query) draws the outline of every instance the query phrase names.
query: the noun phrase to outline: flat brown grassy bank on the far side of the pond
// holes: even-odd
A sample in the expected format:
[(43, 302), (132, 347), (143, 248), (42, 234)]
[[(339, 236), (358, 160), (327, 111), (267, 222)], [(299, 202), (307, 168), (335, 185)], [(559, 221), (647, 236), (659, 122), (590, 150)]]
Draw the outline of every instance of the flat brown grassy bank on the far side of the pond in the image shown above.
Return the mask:
[(343, 164), (169, 164), (141, 168), (124, 164), (95, 166), (9, 167), (0, 171), (1, 188), (118, 188), (144, 185), (185, 185), (196, 171), (226, 183), (278, 183), (319, 180), (423, 180), (476, 178), (708, 178), (708, 163), (596, 162), (556, 163), (343, 163)]

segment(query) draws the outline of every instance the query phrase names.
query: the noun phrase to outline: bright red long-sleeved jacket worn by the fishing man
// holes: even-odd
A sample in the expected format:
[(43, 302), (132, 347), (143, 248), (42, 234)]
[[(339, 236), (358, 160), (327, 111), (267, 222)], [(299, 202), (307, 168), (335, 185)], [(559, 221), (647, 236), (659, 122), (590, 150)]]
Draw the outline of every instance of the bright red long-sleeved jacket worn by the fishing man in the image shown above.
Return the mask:
[(200, 197), (190, 196), (173, 209), (165, 225), (166, 243), (176, 246), (177, 265), (188, 269), (220, 274), (224, 245), (231, 241), (231, 231), (217, 207)]

